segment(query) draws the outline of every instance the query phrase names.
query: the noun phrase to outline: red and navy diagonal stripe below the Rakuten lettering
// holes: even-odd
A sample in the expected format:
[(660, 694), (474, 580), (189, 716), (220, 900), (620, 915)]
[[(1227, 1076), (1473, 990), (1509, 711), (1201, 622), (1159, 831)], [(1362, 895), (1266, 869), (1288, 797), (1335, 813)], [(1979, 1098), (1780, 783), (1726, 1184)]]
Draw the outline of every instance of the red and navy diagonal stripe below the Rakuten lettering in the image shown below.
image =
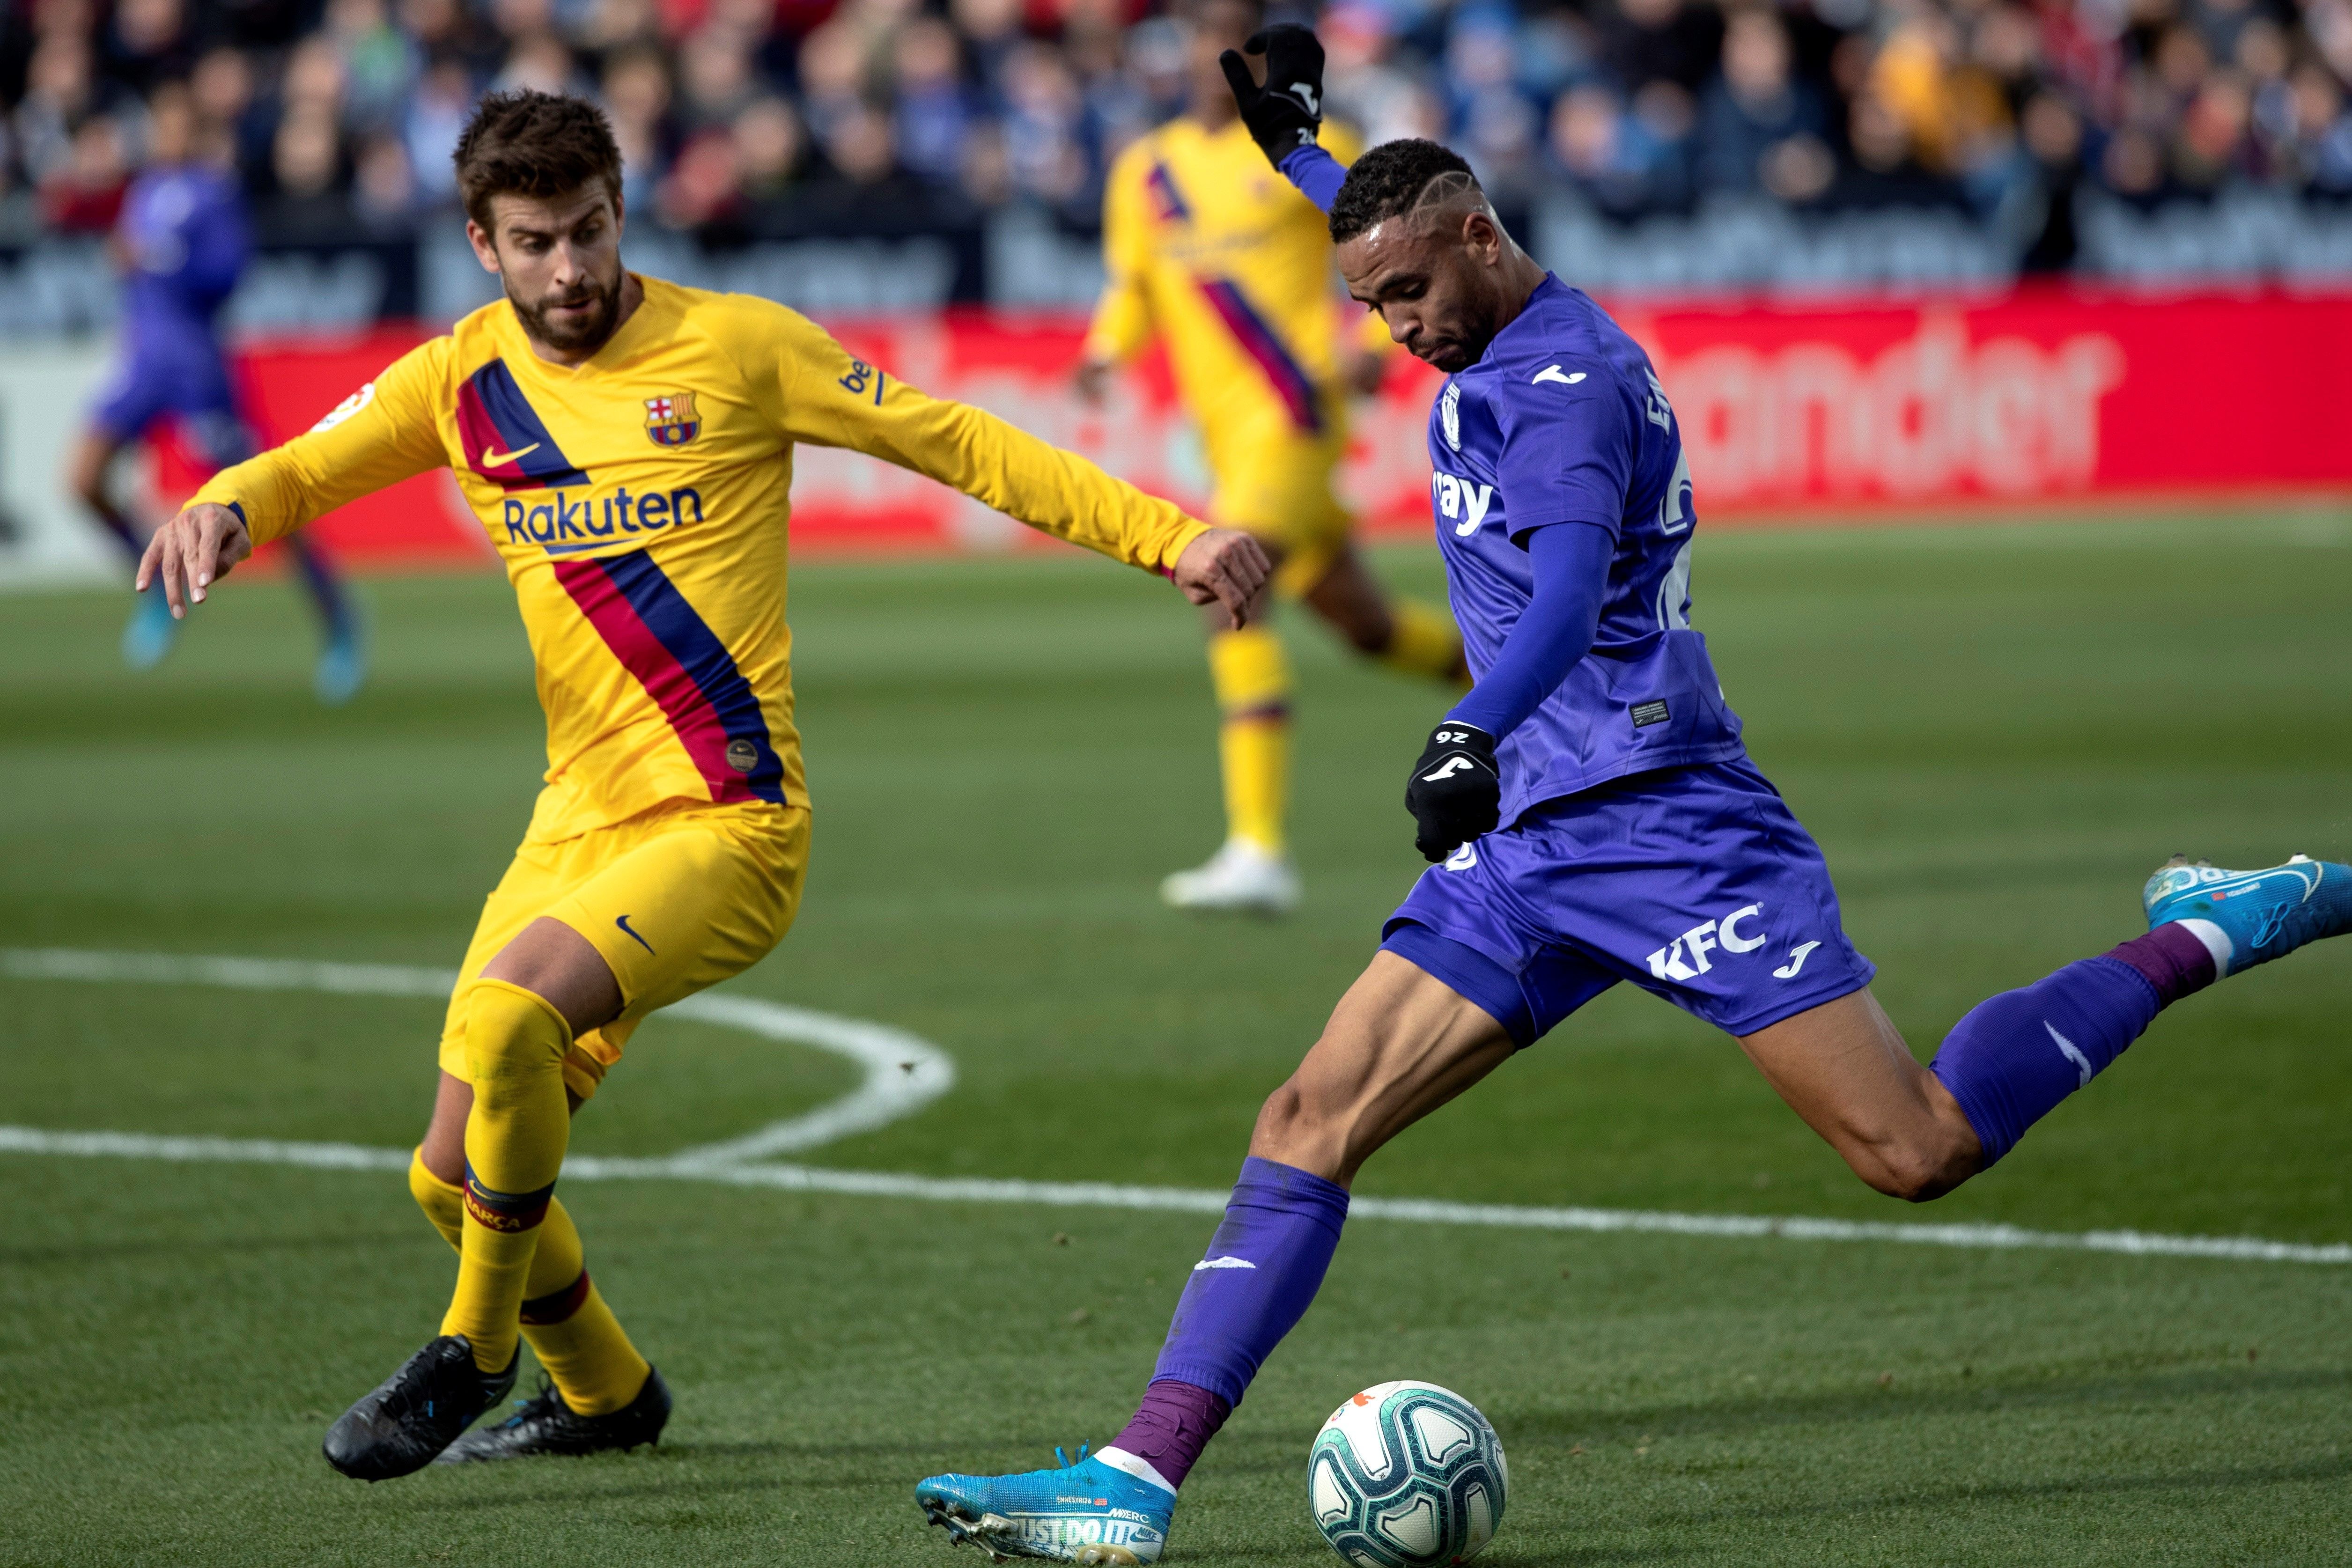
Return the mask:
[[(767, 715), (717, 632), (644, 550), (555, 562), (555, 581), (670, 719), (720, 804), (783, 802)], [(739, 766), (741, 764), (741, 766)]]

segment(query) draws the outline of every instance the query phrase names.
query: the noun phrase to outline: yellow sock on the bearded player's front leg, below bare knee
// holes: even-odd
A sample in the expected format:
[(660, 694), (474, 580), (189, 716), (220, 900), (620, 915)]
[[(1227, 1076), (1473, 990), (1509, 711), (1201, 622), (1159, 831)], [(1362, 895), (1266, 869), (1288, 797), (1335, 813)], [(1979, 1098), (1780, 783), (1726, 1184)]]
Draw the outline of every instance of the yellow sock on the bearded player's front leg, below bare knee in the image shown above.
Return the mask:
[(461, 1333), (485, 1373), (515, 1359), (539, 1232), (572, 1140), (564, 1051), (572, 1027), (536, 992), (475, 980), (466, 992), (466, 1220), (442, 1333)]

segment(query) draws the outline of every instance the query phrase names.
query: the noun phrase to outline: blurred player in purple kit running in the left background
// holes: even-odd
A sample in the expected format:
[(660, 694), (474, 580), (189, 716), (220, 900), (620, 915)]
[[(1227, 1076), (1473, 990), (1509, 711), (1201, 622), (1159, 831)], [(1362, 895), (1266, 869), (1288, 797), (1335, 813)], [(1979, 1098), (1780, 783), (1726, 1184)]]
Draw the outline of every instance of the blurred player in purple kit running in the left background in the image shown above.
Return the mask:
[[(148, 99), (146, 167), (122, 197), (111, 242), (122, 268), (122, 343), (73, 449), (68, 480), (132, 559), (146, 550), (146, 529), (108, 489), (115, 458), (127, 447), (176, 421), (181, 444), (205, 470), (254, 454), (252, 425), (219, 336), (221, 306), (252, 252), (238, 176), (226, 148), (216, 146), (221, 141), (221, 127), (198, 120), (183, 82), (158, 87)], [(287, 550), (318, 604), (327, 639), (310, 686), (322, 703), (348, 703), (367, 679), (350, 590), (310, 541), (289, 538)], [(179, 623), (162, 595), (139, 599), (122, 628), (122, 658), (134, 670), (148, 670), (172, 651)]]

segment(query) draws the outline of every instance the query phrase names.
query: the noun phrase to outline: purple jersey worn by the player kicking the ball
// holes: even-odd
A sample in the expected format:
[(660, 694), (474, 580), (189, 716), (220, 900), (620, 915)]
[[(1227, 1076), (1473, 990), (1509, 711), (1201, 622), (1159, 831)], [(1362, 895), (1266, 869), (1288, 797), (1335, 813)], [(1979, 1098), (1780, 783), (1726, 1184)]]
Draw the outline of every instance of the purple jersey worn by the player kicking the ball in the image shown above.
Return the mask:
[(1534, 595), (1526, 536), (1592, 524), (1616, 541), (1599, 632), (1496, 748), (1503, 818), (1651, 769), (1743, 755), (1708, 642), (1691, 630), (1691, 468), (1649, 355), (1545, 275), (1430, 411), (1437, 545), (1470, 672), (1484, 677)]

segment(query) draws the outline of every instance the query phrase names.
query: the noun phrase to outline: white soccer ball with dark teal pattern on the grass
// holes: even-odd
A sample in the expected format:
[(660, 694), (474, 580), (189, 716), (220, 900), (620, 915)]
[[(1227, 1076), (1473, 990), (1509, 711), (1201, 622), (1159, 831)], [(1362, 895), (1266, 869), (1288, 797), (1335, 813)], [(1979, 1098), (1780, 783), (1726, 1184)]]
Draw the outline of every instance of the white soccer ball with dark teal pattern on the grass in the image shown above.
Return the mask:
[(1503, 1439), (1435, 1382), (1364, 1389), (1308, 1450), (1315, 1528), (1357, 1568), (1468, 1563), (1503, 1523), (1508, 1488)]

